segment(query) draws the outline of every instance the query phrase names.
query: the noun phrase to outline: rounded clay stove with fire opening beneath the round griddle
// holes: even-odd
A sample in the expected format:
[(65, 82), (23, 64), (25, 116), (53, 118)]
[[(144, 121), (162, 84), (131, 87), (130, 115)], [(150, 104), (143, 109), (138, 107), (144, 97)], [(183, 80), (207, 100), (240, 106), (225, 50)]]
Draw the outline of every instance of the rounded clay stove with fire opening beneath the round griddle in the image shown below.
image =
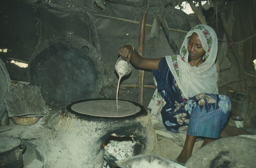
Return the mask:
[[(99, 99), (94, 101), (97, 100)], [(114, 99), (113, 101), (115, 102)], [(49, 157), (53, 150), (49, 148), (50, 152), (45, 158), (46, 165), (50, 167), (102, 167), (103, 143), (113, 133), (125, 137), (132, 136), (137, 142), (135, 154), (156, 151), (157, 138), (151, 125), (150, 115), (140, 104), (131, 102), (140, 107), (140, 111), (131, 116), (111, 118), (77, 113), (72, 110), (72, 106), (76, 103), (70, 104), (68, 111), (62, 113), (54, 124), (60, 139), (59, 146), (54, 150), (61, 152), (57, 153), (58, 156), (55, 153), (54, 157)]]

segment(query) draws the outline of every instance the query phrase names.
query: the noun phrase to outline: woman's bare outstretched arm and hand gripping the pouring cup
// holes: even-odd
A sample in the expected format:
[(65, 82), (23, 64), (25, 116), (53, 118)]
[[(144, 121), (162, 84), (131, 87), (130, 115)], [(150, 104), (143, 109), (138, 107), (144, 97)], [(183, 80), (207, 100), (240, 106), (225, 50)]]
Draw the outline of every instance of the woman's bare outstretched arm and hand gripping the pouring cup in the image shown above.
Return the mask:
[(158, 70), (158, 64), (162, 59), (143, 58), (131, 45), (120, 47), (118, 54), (121, 55), (124, 60), (127, 60), (128, 64), (131, 62), (135, 67), (146, 70)]

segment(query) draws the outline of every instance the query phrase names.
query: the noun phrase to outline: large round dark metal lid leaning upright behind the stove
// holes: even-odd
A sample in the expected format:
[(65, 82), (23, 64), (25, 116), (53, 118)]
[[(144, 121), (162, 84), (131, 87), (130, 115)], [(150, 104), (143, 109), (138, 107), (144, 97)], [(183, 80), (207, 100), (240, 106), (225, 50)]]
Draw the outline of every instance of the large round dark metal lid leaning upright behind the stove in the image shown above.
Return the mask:
[(29, 58), (28, 69), (30, 84), (40, 86), (48, 102), (67, 105), (97, 98), (102, 89), (101, 56), (93, 45), (76, 35), (40, 43)]

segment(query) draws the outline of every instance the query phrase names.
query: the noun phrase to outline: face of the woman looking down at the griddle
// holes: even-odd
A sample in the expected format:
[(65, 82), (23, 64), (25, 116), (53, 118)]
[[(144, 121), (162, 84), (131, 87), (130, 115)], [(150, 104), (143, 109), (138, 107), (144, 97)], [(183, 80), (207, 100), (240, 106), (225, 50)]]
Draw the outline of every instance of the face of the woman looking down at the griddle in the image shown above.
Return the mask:
[(191, 60), (200, 60), (205, 55), (200, 38), (195, 32), (189, 36), (188, 51)]

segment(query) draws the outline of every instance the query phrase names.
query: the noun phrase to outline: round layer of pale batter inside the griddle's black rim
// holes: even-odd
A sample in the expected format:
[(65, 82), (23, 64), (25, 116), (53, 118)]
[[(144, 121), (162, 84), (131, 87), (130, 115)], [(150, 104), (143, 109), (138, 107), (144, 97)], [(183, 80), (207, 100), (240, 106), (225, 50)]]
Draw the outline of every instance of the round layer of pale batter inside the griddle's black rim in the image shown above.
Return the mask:
[(80, 114), (111, 118), (131, 116), (141, 110), (139, 106), (123, 100), (118, 100), (118, 109), (116, 107), (114, 99), (99, 99), (73, 104), (71, 109)]

